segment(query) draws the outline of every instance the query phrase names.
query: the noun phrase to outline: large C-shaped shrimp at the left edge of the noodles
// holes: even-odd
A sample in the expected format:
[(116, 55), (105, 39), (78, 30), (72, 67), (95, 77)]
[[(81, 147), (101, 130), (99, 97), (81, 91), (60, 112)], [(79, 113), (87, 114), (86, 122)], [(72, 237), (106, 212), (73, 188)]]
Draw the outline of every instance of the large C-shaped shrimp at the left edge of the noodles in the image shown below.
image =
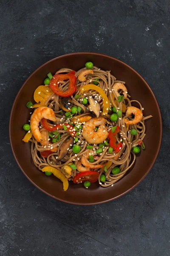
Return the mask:
[(30, 126), (31, 126), (32, 134), (34, 135), (34, 138), (37, 140), (37, 142), (40, 142), (41, 140), (43, 140), (38, 127), (39, 122), (41, 121), (42, 118), (46, 118), (51, 121), (56, 121), (54, 111), (51, 108), (40, 107), (34, 110), (34, 113), (32, 114), (30, 119)]

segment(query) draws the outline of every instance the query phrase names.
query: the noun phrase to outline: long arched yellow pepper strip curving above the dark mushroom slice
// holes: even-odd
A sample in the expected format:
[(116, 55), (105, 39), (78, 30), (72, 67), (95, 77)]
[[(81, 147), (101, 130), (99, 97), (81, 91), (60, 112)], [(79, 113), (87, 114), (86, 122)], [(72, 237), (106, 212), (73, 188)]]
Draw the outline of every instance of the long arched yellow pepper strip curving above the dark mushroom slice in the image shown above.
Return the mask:
[(86, 84), (80, 88), (81, 93), (84, 93), (87, 90), (96, 90), (102, 96), (102, 99), (103, 99), (102, 116), (107, 115), (108, 110), (109, 110), (109, 100), (108, 100), (108, 97), (105, 94), (104, 90), (102, 90), (100, 87), (98, 87), (97, 85), (94, 85), (94, 84)]

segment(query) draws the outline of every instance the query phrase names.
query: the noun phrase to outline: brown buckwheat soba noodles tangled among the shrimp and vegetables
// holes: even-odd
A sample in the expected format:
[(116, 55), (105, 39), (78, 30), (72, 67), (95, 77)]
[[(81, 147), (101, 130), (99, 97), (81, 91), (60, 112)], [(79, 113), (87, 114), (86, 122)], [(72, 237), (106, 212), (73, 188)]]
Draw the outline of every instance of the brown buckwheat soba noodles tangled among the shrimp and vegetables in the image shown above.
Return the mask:
[[(80, 69), (79, 71), (77, 71), (75, 73), (75, 76), (78, 77), (79, 73), (81, 73), (83, 70), (85, 70), (85, 68)], [(104, 70), (100, 70), (97, 67), (93, 67), (93, 71), (94, 74), (88, 74), (86, 76), (86, 80), (85, 82), (79, 82), (79, 80), (77, 79), (77, 93), (76, 95), (81, 95), (80, 93), (80, 88), (82, 86), (84, 86), (85, 84), (90, 84), (93, 81), (95, 81), (95, 79), (99, 79), (99, 84), (98, 86), (105, 91), (106, 95), (108, 96), (109, 99), (109, 105), (110, 107), (114, 106), (116, 108), (116, 110), (120, 110), (122, 111), (122, 102), (118, 102), (118, 107), (116, 106), (114, 99), (117, 100), (117, 96), (114, 93), (114, 90), (112, 89), (113, 84), (116, 82), (121, 82), (122, 84), (125, 84), (124, 81), (118, 81), (116, 80), (116, 78), (111, 75), (110, 71), (104, 71)], [(71, 69), (68, 68), (62, 68), (59, 71), (56, 72), (56, 74), (59, 73), (69, 73), (71, 72)], [(68, 84), (69, 81), (61, 81), (59, 83), (59, 88), (63, 91), (67, 90), (68, 88)], [(45, 85), (48, 87), (48, 85)], [(121, 93), (121, 92), (120, 92)], [(113, 98), (113, 94), (114, 94), (114, 98)], [(97, 93), (94, 90), (90, 90), (90, 91), (86, 91), (85, 93), (82, 94), (82, 96), (80, 96), (78, 99), (75, 99), (75, 96), (71, 96), (71, 101), (73, 103), (73, 105), (75, 106), (79, 106), (82, 108), (81, 114), (83, 115), (91, 115), (94, 116), (93, 112), (90, 112), (88, 110), (88, 108), (85, 105), (82, 105), (82, 99), (84, 97), (88, 96), (92, 96), (94, 97), (94, 99), (100, 103), (101, 105), (101, 111), (100, 113), (102, 113), (102, 97), (99, 95), (99, 93)], [(139, 109), (142, 111), (142, 105), (140, 104), (140, 102), (138, 102), (137, 100), (130, 100), (130, 95), (127, 94), (127, 98), (123, 100), (123, 103), (126, 105), (126, 108), (131, 106), (131, 104), (133, 104), (133, 102), (136, 102), (139, 105)], [(61, 114), (62, 108), (59, 105), (59, 96), (56, 95), (55, 93), (53, 93), (45, 102), (45, 104), (48, 105), (48, 108), (53, 109), (55, 116), (57, 117), (57, 121), (54, 122), (54, 124), (59, 124), (59, 123), (69, 123), (71, 118), (68, 120), (65, 120), (65, 116), (64, 114)], [(62, 112), (63, 113), (63, 112)], [(77, 113), (78, 115), (78, 113)], [(138, 123), (138, 124), (134, 124), (134, 125), (129, 125), (129, 128), (126, 129), (126, 125), (125, 125), (125, 113), (122, 113), (122, 116), (119, 117), (117, 122), (111, 122), (110, 120), (110, 114), (108, 113), (107, 115), (103, 116), (107, 122), (106, 122), (106, 128), (109, 131), (113, 126), (115, 125), (119, 125), (120, 127), (120, 132), (119, 134), (116, 135), (116, 140), (117, 142), (122, 142), (122, 149), (118, 152), (118, 153), (113, 153), (109, 154), (108, 153), (108, 148), (109, 145), (105, 145), (102, 149), (102, 153), (100, 153), (98, 155), (98, 159), (97, 157), (94, 159), (97, 159), (94, 161), (94, 163), (91, 163), (93, 165), (96, 164), (105, 164), (108, 161), (111, 161), (111, 166), (107, 169), (107, 172), (104, 172), (103, 169), (94, 169), (95, 171), (99, 172), (99, 184), (102, 187), (107, 187), (107, 186), (113, 186), (114, 183), (116, 183), (119, 179), (121, 179), (125, 173), (133, 166), (133, 164), (135, 163), (135, 159), (136, 159), (136, 155), (133, 153), (133, 151), (131, 151), (131, 149), (133, 148), (133, 146), (138, 145), (138, 142), (140, 140), (143, 140), (145, 137), (145, 125), (144, 125), (144, 120), (147, 118), (150, 118), (151, 116), (143, 116), (143, 119)], [(82, 128), (83, 128), (83, 124)], [(132, 134), (130, 134), (130, 130), (131, 129), (136, 129), (137, 130), (137, 135), (134, 136)], [(40, 131), (45, 130), (42, 125), (40, 125)], [(128, 130), (128, 131), (127, 131)], [(46, 131), (46, 130), (45, 130)], [(90, 145), (89, 143), (87, 143), (84, 139), (84, 137), (82, 136), (82, 132), (80, 130), (80, 134), (77, 136), (78, 137), (78, 142), (76, 143), (77, 145), (80, 146), (81, 150), (78, 154), (74, 154), (74, 152), (72, 151), (72, 149), (70, 149), (68, 151), (68, 154), (66, 154), (66, 156), (62, 159), (62, 161), (58, 161), (57, 157), (58, 157), (58, 153), (60, 148), (62, 148), (62, 144), (63, 142), (65, 142), (69, 137), (70, 134), (68, 134), (67, 131), (64, 130), (57, 130), (58, 134), (61, 134), (61, 138), (59, 141), (57, 141), (56, 143), (51, 144), (50, 143), (50, 139), (48, 139), (48, 144), (46, 147), (43, 147), (40, 145), (40, 143), (37, 143), (37, 141), (34, 139), (34, 137), (31, 139), (31, 154), (32, 154), (32, 159), (34, 161), (35, 166), (37, 166), (40, 170), (45, 167), (45, 166), (52, 166), (54, 168), (57, 168), (59, 171), (61, 171), (61, 167), (68, 165), (70, 162), (74, 162), (75, 165), (77, 165), (77, 162), (81, 159), (81, 156), (83, 154), (86, 154), (86, 152), (88, 152), (88, 150), (86, 149), (87, 145)], [(46, 131), (48, 134), (48, 131)], [(56, 136), (54, 136), (54, 138), (56, 138), (58, 136), (58, 134)], [(46, 151), (46, 150), (50, 150), (54, 147), (58, 147), (57, 152), (54, 152), (52, 154), (50, 154), (47, 158), (44, 158), (40, 155), (40, 151)], [(97, 144), (93, 144), (93, 151), (94, 153), (96, 153), (96, 150), (99, 148), (99, 146)], [(113, 175), (111, 170), (113, 169), (113, 167), (115, 166), (119, 166), (120, 172), (118, 174)], [(73, 177), (76, 175), (77, 170), (73, 170), (72, 171), (72, 177), (68, 178), (68, 180), (73, 180)], [(100, 176), (105, 173), (106, 176), (106, 180), (105, 182), (101, 182), (100, 181)]]

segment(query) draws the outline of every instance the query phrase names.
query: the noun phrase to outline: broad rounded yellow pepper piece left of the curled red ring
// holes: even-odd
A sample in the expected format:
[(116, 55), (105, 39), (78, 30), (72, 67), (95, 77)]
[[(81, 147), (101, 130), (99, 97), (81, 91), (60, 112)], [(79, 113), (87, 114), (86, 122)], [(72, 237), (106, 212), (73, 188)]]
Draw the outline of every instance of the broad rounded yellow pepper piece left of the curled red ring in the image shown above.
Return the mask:
[(53, 93), (50, 87), (45, 85), (40, 85), (34, 91), (34, 101), (40, 104), (45, 103), (47, 98)]

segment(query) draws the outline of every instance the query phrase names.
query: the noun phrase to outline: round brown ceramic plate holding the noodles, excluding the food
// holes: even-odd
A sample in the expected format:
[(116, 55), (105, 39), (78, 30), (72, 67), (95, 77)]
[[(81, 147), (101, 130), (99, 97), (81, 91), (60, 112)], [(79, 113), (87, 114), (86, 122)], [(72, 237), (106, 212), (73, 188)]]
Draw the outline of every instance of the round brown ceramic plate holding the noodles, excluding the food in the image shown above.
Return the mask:
[[(102, 188), (99, 184), (91, 184), (85, 189), (82, 184), (69, 182), (66, 192), (62, 189), (62, 182), (56, 177), (45, 176), (40, 172), (31, 158), (30, 143), (23, 143), (25, 135), (23, 124), (28, 123), (30, 111), (26, 108), (28, 101), (34, 102), (34, 90), (43, 84), (47, 73), (54, 74), (62, 67), (79, 70), (85, 66), (87, 61), (92, 61), (95, 66), (103, 70), (111, 70), (111, 74), (118, 80), (126, 81), (128, 92), (132, 99), (142, 103), (144, 116), (153, 115), (146, 120), (146, 137), (144, 144), (146, 150), (137, 156), (136, 163), (129, 172), (119, 180), (113, 187)], [(162, 136), (161, 113), (156, 98), (144, 79), (127, 64), (107, 55), (92, 52), (77, 52), (63, 55), (43, 64), (25, 81), (18, 92), (11, 110), (9, 123), (9, 136), (11, 148), (18, 166), (38, 189), (57, 200), (70, 204), (101, 204), (125, 195), (135, 188), (148, 174), (159, 153)]]

